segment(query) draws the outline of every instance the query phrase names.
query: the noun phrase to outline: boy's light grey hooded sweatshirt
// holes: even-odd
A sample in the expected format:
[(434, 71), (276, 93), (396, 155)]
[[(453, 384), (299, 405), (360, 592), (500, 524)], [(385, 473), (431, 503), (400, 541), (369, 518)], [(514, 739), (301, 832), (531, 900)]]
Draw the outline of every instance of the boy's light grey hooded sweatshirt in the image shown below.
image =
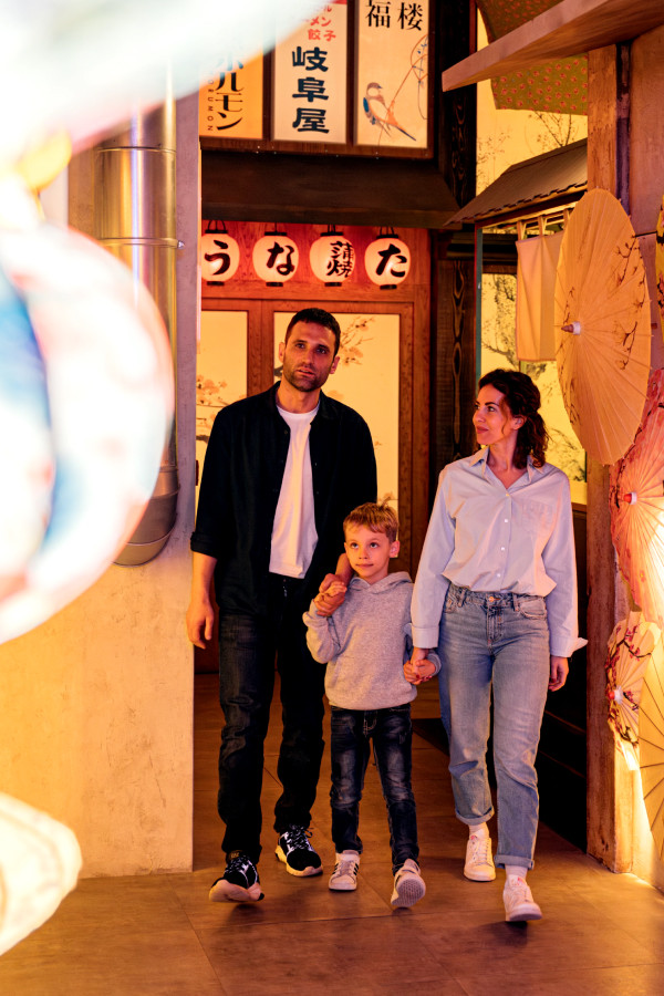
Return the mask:
[[(356, 575), (345, 600), (329, 618), (312, 602), (302, 616), (311, 655), (328, 664), (325, 693), (343, 709), (386, 709), (412, 702), (417, 688), (404, 677), (411, 640), (413, 582), (405, 571), (374, 584)], [(435, 654), (429, 661), (440, 663)], [(436, 671), (436, 673), (437, 673)]]

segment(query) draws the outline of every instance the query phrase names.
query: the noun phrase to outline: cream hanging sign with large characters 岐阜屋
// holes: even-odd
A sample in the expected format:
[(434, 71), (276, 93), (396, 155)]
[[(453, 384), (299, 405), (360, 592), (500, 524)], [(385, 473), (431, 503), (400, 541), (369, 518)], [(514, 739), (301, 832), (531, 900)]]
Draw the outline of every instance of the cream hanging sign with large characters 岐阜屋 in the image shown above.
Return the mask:
[(345, 143), (346, 0), (328, 3), (274, 49), (272, 138)]

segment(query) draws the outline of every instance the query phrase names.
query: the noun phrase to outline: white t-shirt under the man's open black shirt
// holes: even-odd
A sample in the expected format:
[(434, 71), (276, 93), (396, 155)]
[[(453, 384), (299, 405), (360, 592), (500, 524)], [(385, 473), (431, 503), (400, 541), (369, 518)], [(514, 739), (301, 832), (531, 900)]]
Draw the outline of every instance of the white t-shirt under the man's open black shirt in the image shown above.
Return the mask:
[(303, 578), (318, 542), (309, 452), (309, 429), (318, 405), (302, 415), (277, 408), (290, 428), (290, 445), (272, 526), (270, 571)]

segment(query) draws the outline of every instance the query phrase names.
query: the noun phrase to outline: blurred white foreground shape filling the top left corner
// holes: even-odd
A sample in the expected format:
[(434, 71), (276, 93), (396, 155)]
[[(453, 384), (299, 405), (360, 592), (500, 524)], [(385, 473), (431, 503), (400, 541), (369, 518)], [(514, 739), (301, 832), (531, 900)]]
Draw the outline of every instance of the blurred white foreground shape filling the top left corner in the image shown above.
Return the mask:
[[(0, 169), (64, 129), (75, 149), (273, 48), (320, 0), (0, 0)], [(172, 93), (166, 92), (166, 80)]]

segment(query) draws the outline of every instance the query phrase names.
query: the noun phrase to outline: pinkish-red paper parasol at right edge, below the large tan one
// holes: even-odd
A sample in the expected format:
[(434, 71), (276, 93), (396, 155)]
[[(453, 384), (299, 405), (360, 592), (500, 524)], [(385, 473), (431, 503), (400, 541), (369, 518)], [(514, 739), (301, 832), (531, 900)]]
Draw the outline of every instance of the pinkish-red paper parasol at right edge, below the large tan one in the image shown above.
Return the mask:
[(653, 372), (632, 446), (611, 468), (611, 538), (623, 577), (650, 622), (664, 629), (664, 370)]

